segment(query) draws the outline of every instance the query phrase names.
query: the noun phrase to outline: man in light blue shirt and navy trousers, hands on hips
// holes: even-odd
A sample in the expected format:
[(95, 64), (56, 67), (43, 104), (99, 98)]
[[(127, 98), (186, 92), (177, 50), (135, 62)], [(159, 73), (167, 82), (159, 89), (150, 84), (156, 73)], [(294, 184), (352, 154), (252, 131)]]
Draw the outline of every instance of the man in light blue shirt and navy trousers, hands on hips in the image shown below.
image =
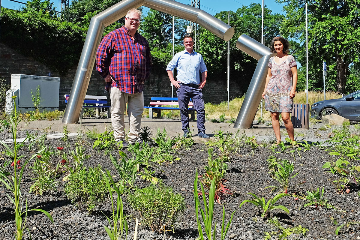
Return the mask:
[[(207, 69), (201, 54), (194, 51), (194, 40), (191, 35), (184, 36), (185, 50), (174, 55), (166, 67), (172, 85), (176, 87), (179, 100), (181, 123), (183, 124), (184, 137), (189, 133), (188, 105), (190, 98), (193, 101), (197, 116), (198, 136), (209, 138), (205, 133), (205, 108), (202, 89), (206, 83)], [(176, 68), (176, 80), (172, 70)], [(202, 81), (200, 82), (200, 74)]]

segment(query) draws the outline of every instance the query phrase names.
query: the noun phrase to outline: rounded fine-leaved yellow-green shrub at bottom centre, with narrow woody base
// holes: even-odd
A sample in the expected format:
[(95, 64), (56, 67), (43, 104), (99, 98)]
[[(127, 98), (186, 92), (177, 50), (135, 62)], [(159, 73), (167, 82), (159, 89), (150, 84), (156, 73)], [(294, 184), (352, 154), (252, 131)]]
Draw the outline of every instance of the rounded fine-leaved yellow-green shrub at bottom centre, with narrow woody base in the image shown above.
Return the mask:
[(185, 202), (181, 194), (173, 193), (171, 187), (150, 184), (143, 189), (136, 188), (129, 193), (127, 201), (130, 206), (139, 211), (144, 222), (159, 233), (176, 227), (185, 210)]

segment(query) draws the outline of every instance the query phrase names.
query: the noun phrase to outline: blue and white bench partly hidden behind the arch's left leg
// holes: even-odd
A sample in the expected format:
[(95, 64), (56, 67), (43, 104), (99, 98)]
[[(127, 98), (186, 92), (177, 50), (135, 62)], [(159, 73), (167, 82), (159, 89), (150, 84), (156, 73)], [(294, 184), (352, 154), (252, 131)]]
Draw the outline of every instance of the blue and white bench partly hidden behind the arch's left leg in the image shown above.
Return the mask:
[[(65, 94), (65, 103), (69, 100), (69, 94)], [(96, 117), (100, 117), (100, 112), (108, 112), (108, 118), (110, 118), (110, 107), (108, 106), (108, 101), (106, 96), (94, 96), (94, 95), (86, 95), (84, 100), (84, 105), (82, 106), (80, 118), (84, 114), (84, 108), (95, 108), (96, 109)]]

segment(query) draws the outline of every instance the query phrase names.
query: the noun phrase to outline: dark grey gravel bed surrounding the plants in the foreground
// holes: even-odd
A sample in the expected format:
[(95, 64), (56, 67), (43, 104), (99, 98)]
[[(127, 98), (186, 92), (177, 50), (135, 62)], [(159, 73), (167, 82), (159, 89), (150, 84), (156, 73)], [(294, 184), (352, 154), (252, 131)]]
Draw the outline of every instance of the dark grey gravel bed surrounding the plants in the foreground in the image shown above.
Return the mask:
[[(31, 132), (34, 133), (34, 132)], [(39, 132), (41, 135), (42, 133)], [(25, 131), (19, 131), (20, 137), (26, 136)], [(11, 136), (10, 136), (11, 137)], [(1, 139), (10, 138), (3, 134)], [(66, 146), (61, 139), (49, 139), (46, 144), (56, 148), (63, 146), (65, 152), (75, 148), (75, 137), (69, 138), (69, 145)], [(117, 171), (111, 164), (109, 157), (104, 156), (103, 152), (93, 150), (93, 140), (84, 141), (86, 154), (91, 155), (85, 161), (86, 167), (94, 167), (98, 164), (103, 169), (108, 169), (113, 175), (117, 176)], [(4, 151), (3, 146), (0, 151)], [(280, 150), (280, 149), (279, 149)], [(128, 155), (129, 151), (123, 150)], [(29, 158), (33, 153), (28, 151), (28, 148), (21, 149), (21, 154), (25, 155), (24, 159)], [(4, 158), (8, 157), (1, 153), (2, 157), (0, 164), (3, 164)], [(120, 158), (118, 150), (112, 151), (112, 155)], [(159, 165), (160, 170), (156, 174), (161, 178), (163, 184), (171, 186), (174, 192), (181, 193), (184, 196), (186, 210), (184, 217), (176, 228), (175, 233), (166, 232), (165, 236), (158, 235), (150, 231), (148, 226), (141, 224), (138, 228), (137, 239), (144, 240), (160, 240), (160, 239), (177, 239), (177, 240), (195, 240), (198, 237), (197, 223), (194, 209), (194, 194), (193, 185), (195, 177), (195, 169), (198, 169), (199, 175), (204, 173), (203, 167), (207, 164), (207, 146), (204, 144), (195, 144), (190, 150), (179, 150), (173, 163), (163, 163)], [(266, 223), (266, 219), (260, 216), (255, 205), (244, 204), (239, 208), (240, 203), (245, 199), (250, 199), (248, 193), (254, 193), (257, 196), (264, 196), (266, 199), (273, 197), (276, 193), (271, 191), (267, 186), (278, 185), (277, 182), (271, 178), (266, 159), (273, 155), (269, 148), (259, 147), (255, 152), (250, 147), (244, 147), (240, 153), (230, 156), (228, 164), (228, 171), (226, 174), (227, 182), (225, 185), (232, 191), (233, 195), (228, 196), (221, 201), (220, 204), (215, 204), (214, 216), (218, 222), (217, 234), (221, 230), (222, 207), (225, 206), (226, 220), (230, 219), (231, 213), (236, 210), (231, 223), (228, 239), (264, 239), (265, 232), (277, 231), (271, 225)], [(279, 159), (288, 159), (294, 163), (294, 173), (299, 174), (290, 180), (289, 189), (296, 190), (300, 193), (306, 194), (306, 191), (314, 191), (317, 187), (322, 189), (324, 187), (325, 197), (329, 200), (329, 204), (337, 208), (323, 209), (303, 207), (305, 200), (294, 200), (293, 197), (282, 198), (278, 201), (279, 204), (284, 205), (290, 211), (289, 214), (280, 210), (274, 210), (270, 216), (277, 216), (283, 227), (294, 227), (301, 225), (309, 229), (306, 236), (291, 235), (289, 239), (360, 239), (360, 225), (351, 225), (350, 227), (343, 227), (339, 235), (335, 235), (336, 228), (350, 221), (359, 221), (360, 206), (359, 206), (359, 187), (351, 189), (349, 194), (338, 195), (332, 183), (336, 176), (321, 168), (329, 159), (335, 159), (336, 156), (328, 155), (328, 151), (320, 150), (312, 147), (309, 151), (300, 152), (301, 157), (295, 153), (275, 153)], [(109, 201), (103, 204), (101, 209), (95, 211), (92, 215), (86, 212), (80, 212), (67, 199), (64, 193), (63, 176), (60, 176), (57, 191), (50, 194), (34, 195), (28, 193), (29, 187), (33, 184), (31, 181), (31, 169), (33, 162), (28, 163), (24, 170), (22, 193), (26, 196), (28, 208), (41, 208), (48, 211), (54, 218), (54, 223), (51, 223), (44, 214), (31, 213), (28, 215), (26, 225), (31, 231), (31, 239), (51, 239), (51, 240), (81, 240), (81, 239), (109, 239), (104, 230), (104, 226), (108, 225), (107, 219), (103, 213), (109, 213)], [(12, 167), (9, 167), (9, 172)], [(115, 179), (117, 179), (116, 177)], [(117, 179), (118, 180), (118, 179)], [(300, 184), (302, 183), (303, 184)], [(300, 184), (300, 185), (299, 185)], [(148, 186), (149, 182), (138, 179), (136, 185), (139, 187)], [(13, 239), (15, 224), (13, 204), (10, 202), (6, 194), (10, 194), (4, 186), (0, 186), (0, 239)], [(122, 196), (124, 202), (124, 209), (126, 214), (132, 214), (140, 219), (139, 213), (131, 209), (126, 202), (126, 195)], [(130, 219), (129, 222), (129, 236), (127, 239), (132, 239), (134, 235), (135, 221)], [(219, 235), (218, 235), (219, 236)], [(24, 239), (27, 239), (26, 237)], [(220, 239), (220, 237), (218, 238)], [(278, 238), (272, 238), (278, 240)]]

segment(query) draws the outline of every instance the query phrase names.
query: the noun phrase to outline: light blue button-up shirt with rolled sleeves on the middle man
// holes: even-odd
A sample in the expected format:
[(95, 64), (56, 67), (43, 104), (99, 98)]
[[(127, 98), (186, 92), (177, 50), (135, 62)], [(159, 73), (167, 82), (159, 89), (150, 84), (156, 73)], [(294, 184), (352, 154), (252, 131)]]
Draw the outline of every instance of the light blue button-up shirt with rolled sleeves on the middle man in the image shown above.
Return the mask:
[(166, 71), (176, 68), (176, 80), (185, 84), (199, 84), (200, 74), (207, 71), (204, 59), (201, 54), (193, 51), (191, 54), (184, 50), (174, 55), (167, 64)]

